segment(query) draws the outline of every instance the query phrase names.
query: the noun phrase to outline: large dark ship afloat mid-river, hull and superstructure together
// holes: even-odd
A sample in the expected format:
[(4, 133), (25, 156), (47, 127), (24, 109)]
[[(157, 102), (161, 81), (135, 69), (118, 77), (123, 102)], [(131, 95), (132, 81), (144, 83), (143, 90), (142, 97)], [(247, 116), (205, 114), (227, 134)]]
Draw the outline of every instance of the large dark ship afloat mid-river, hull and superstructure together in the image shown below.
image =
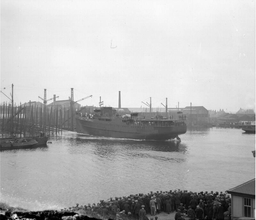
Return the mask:
[(162, 116), (145, 119), (138, 114), (121, 116), (112, 107), (100, 107), (94, 110), (91, 117), (76, 115), (76, 132), (114, 138), (168, 140), (187, 131), (185, 120), (172, 120)]

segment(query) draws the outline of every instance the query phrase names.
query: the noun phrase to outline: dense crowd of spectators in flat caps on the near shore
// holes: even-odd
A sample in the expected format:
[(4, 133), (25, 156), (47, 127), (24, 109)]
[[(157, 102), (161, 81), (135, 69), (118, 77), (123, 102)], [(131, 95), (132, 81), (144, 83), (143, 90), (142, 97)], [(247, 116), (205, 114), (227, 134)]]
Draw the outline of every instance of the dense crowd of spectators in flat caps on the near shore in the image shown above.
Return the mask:
[[(110, 197), (97, 204), (64, 208), (62, 211), (83, 209), (87, 216), (102, 219), (149, 220), (157, 219), (161, 212), (176, 212), (175, 220), (230, 219), (230, 197), (222, 192), (188, 192), (188, 190), (151, 191), (148, 194), (131, 194)], [(148, 217), (149, 216), (149, 217)]]

